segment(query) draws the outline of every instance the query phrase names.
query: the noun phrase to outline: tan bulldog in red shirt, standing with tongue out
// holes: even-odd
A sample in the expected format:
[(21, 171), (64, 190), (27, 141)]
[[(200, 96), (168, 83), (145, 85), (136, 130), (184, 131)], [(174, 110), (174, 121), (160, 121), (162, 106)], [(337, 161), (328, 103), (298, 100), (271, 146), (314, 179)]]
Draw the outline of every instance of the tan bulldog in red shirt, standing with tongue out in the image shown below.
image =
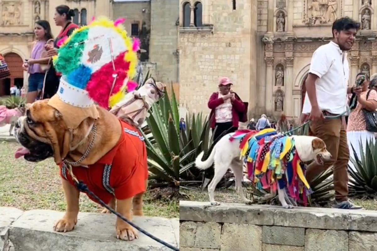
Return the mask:
[[(71, 129), (47, 99), (39, 100), (26, 107), (26, 116), (15, 125), (15, 137), (22, 145), (16, 158), (37, 162), (52, 157), (60, 168), (67, 206), (55, 231), (71, 231), (77, 224), (80, 192), (72, 175), (126, 219), (143, 215), (148, 176), (143, 137), (103, 108), (97, 110), (98, 119), (88, 117)], [(118, 239), (138, 239), (137, 231), (120, 218), (115, 229)]]

